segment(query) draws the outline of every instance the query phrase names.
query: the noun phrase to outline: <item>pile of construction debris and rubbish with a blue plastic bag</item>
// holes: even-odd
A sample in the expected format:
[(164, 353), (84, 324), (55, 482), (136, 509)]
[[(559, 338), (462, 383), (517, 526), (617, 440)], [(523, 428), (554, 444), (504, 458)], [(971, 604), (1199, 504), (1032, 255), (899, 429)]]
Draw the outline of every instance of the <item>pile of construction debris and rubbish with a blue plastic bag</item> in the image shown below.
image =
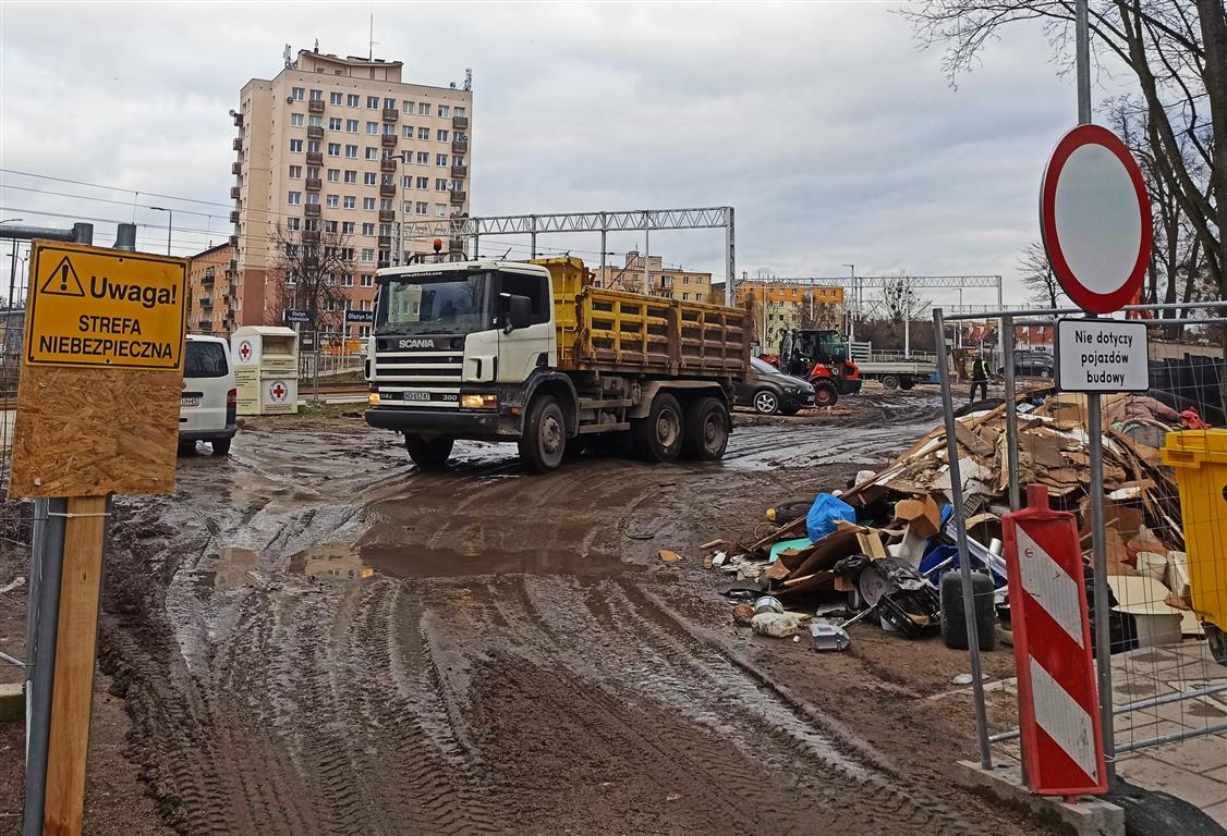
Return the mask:
[[(1088, 557), (1086, 414), (1083, 396), (1040, 391), (1020, 400), (1016, 417), (1020, 484), (1047, 485), (1054, 507), (1079, 516)], [(1108, 574), (1119, 581), (1112, 583), (1119, 588), (1117, 603), (1120, 612), (1130, 612), (1133, 601), (1125, 599), (1142, 596), (1147, 613), (1187, 609), (1188, 592), (1179, 582), (1187, 569), (1178, 490), (1158, 451), (1167, 433), (1179, 429), (1179, 417), (1134, 395), (1106, 397), (1104, 416)], [(1009, 614), (1001, 550), (1001, 516), (1010, 510), (1006, 406), (957, 418), (955, 435), (962, 516), (979, 585), (974, 591), (978, 606), (984, 603), (984, 612), (972, 617), (982, 626), (982, 648), (991, 648), (996, 615)], [(812, 507), (778, 509), (774, 525), (760, 527), (752, 542), (706, 544), (708, 564), (733, 576), (725, 593), (741, 601), (735, 617), (747, 624), (761, 620), (764, 613), (755, 610), (763, 608), (752, 602), (771, 596), (774, 603), (764, 612), (791, 615), (799, 628), (817, 601), (825, 599), (828, 610), (836, 601), (836, 612), (828, 614), (837, 628), (840, 620), (872, 615), (904, 636), (940, 629), (947, 645), (967, 647), (961, 579), (950, 571), (957, 568), (958, 552), (948, 456), (945, 427), (939, 425), (881, 472), (859, 474), (848, 490), (820, 494)], [(1130, 577), (1147, 579), (1147, 588), (1141, 590), (1139, 580), (1120, 580)], [(1160, 586), (1148, 586), (1152, 581)], [(1155, 597), (1157, 604), (1151, 606)], [(820, 630), (811, 629), (817, 647)], [(1195, 630), (1196, 620), (1185, 618), (1182, 629)], [(836, 644), (847, 646), (844, 639)]]

